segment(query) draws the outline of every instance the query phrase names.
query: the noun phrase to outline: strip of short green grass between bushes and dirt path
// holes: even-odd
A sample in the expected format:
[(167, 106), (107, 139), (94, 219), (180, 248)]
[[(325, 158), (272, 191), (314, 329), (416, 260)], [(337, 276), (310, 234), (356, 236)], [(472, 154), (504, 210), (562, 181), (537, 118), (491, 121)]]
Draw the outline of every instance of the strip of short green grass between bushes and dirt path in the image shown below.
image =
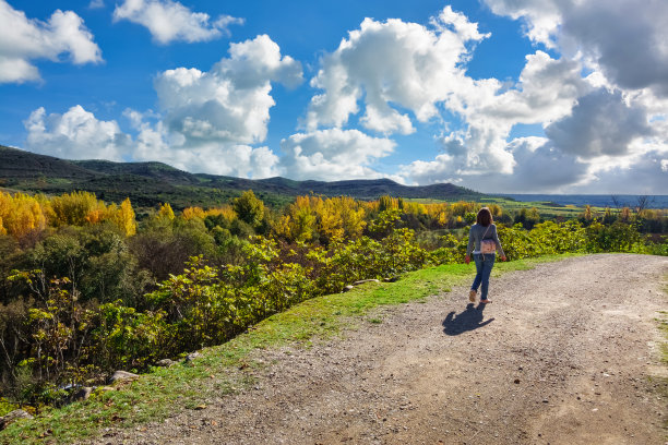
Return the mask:
[[(497, 263), (494, 275), (524, 270), (537, 263), (573, 255), (553, 255)], [(0, 432), (1, 444), (69, 444), (99, 435), (108, 426), (131, 428), (162, 420), (176, 410), (196, 409), (207, 399), (230, 394), (253, 384), (248, 370), (255, 363), (249, 353), (259, 348), (331, 338), (343, 328), (363, 323), (382, 323), (382, 314), (370, 313), (381, 305), (424, 301), (475, 275), (472, 265), (443, 265), (405, 274), (396, 282), (367, 282), (346, 293), (308, 300), (275, 314), (225, 345), (205, 348), (190, 363), (155, 369), (141, 378), (98, 392), (91, 399), (61, 409), (47, 409), (33, 420), (19, 421)]]

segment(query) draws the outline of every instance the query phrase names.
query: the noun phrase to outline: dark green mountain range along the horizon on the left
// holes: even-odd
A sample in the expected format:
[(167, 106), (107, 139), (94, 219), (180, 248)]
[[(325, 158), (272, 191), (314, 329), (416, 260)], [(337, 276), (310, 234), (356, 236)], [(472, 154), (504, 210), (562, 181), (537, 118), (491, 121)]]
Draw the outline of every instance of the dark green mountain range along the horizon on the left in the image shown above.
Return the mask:
[(407, 187), (389, 179), (350, 181), (293, 181), (286, 178), (251, 180), (226, 176), (189, 173), (163, 163), (111, 163), (65, 160), (0, 145), (0, 188), (10, 191), (61, 194), (82, 190), (100, 200), (153, 207), (170, 203), (175, 208), (214, 206), (252, 190), (270, 205), (282, 205), (295, 196), (351, 196), (377, 200), (383, 195), (405, 199), (480, 200), (486, 195), (450, 183)]

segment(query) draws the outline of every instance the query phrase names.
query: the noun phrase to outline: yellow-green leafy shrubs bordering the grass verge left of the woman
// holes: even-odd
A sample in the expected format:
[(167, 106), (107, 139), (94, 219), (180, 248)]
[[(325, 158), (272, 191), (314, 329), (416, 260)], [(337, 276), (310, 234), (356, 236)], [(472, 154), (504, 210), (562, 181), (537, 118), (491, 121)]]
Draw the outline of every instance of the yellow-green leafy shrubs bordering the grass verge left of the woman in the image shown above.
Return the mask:
[(12, 317), (9, 308), (3, 311), (3, 347), (17, 345), (5, 360), (11, 369), (5, 378), (15, 385), (22, 370), (29, 370), (32, 394), (41, 395), (32, 401), (46, 401), (44, 395), (58, 396), (59, 387), (118, 368), (145, 369), (158, 359), (219, 344), (308, 298), (341, 291), (358, 279), (421, 267), (427, 253), (413, 236), (398, 229), (380, 241), (361, 237), (326, 250), (281, 248), (257, 237), (246, 244), (240, 265), (212, 266), (203, 256), (191, 258), (182, 274), (170, 275), (144, 294), (143, 310), (121, 299), (86, 302), (68, 278), (47, 282), (40, 270), (17, 274), (12, 280), (25, 282), (31, 300)]

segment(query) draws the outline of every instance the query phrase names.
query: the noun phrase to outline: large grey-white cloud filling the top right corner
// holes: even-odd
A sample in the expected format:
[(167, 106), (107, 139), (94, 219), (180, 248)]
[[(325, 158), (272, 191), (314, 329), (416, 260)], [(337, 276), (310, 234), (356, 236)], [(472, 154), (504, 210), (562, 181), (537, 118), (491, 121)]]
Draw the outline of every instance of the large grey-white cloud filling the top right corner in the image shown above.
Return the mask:
[(534, 41), (581, 57), (621, 88), (668, 95), (668, 2), (665, 0), (484, 0), (522, 20)]

